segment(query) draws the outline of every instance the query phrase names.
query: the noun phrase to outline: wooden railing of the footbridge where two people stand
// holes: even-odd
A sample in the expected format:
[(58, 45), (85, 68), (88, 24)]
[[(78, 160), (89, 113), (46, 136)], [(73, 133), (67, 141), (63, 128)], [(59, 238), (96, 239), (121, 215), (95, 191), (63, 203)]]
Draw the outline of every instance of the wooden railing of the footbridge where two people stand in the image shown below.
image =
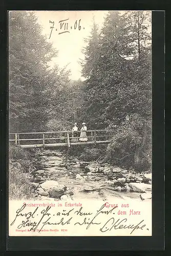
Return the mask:
[[(78, 137), (72, 137), (72, 131), (56, 132), (31, 132), (31, 133), (10, 133), (9, 141), (20, 145), (41, 145), (43, 147), (52, 144), (68, 145), (75, 144), (72, 139), (79, 141), (81, 131), (77, 131)], [(109, 141), (110, 131), (107, 130), (88, 130), (86, 131), (88, 142)]]

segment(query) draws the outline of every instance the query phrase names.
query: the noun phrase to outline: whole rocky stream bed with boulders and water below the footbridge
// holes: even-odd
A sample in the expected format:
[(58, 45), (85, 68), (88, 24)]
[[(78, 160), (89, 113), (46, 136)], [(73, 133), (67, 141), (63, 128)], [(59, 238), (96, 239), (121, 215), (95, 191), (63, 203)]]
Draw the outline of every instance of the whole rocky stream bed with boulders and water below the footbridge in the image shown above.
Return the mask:
[(57, 150), (34, 149), (35, 170), (29, 182), (38, 200), (75, 200), (115, 198), (152, 199), (152, 174), (136, 173), (107, 163), (83, 162)]

